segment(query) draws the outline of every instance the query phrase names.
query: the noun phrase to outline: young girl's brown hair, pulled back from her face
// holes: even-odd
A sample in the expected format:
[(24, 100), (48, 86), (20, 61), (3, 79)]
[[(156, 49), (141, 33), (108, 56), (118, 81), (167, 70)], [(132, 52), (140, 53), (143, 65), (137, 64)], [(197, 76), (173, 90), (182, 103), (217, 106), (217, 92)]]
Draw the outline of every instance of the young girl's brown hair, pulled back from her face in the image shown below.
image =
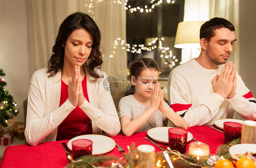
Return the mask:
[[(145, 69), (154, 69), (160, 71), (159, 65), (154, 59), (151, 58), (140, 58), (136, 59), (130, 66), (130, 77), (138, 78), (140, 73)], [(131, 87), (124, 93), (126, 96), (135, 93), (135, 86), (132, 84)]]

